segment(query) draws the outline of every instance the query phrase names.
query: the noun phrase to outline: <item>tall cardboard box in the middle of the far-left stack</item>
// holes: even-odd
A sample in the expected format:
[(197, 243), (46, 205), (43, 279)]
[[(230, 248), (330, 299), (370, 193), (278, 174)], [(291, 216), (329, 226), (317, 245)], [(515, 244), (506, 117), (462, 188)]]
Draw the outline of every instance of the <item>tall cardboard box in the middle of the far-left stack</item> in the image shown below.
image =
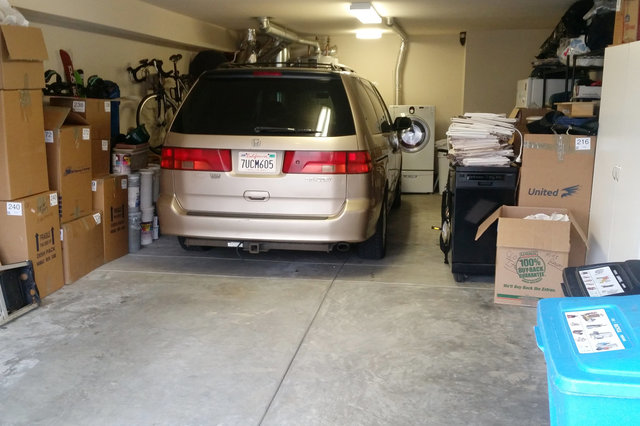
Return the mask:
[(41, 90), (0, 90), (0, 200), (49, 190)]

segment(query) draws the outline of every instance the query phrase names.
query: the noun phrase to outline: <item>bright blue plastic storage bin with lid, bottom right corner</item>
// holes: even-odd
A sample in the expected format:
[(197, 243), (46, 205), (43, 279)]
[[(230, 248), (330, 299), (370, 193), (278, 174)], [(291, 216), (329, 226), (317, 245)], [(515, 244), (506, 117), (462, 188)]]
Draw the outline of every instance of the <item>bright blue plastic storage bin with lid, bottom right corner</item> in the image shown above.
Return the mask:
[(640, 424), (640, 295), (538, 302), (552, 425)]

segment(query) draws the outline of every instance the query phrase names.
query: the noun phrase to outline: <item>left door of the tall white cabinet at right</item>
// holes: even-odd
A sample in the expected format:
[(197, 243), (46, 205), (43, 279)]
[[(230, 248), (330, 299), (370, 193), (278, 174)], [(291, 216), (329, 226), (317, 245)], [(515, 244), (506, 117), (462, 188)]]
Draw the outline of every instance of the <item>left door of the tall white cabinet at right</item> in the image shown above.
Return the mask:
[[(614, 228), (614, 207), (618, 192), (621, 157), (624, 156), (626, 132), (631, 109), (629, 108), (629, 45), (608, 48), (600, 103), (600, 127), (596, 146), (596, 158), (589, 217), (589, 250), (587, 263), (610, 261), (609, 256)], [(618, 259), (619, 260), (619, 259)]]

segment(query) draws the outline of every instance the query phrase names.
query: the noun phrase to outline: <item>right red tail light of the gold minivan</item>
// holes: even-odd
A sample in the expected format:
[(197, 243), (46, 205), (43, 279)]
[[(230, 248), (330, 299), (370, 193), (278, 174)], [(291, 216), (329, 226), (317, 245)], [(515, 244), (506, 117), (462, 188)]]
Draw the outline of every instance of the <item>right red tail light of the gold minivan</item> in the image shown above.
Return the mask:
[(367, 151), (287, 151), (283, 173), (361, 174), (371, 171)]

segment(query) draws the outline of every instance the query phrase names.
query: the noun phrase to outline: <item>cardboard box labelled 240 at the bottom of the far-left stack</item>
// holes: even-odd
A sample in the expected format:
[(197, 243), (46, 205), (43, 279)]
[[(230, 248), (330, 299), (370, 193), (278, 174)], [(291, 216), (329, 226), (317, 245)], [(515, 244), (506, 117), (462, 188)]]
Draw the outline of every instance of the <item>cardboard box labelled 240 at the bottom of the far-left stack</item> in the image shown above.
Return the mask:
[(0, 201), (0, 262), (31, 260), (40, 297), (64, 285), (58, 196), (53, 191)]

